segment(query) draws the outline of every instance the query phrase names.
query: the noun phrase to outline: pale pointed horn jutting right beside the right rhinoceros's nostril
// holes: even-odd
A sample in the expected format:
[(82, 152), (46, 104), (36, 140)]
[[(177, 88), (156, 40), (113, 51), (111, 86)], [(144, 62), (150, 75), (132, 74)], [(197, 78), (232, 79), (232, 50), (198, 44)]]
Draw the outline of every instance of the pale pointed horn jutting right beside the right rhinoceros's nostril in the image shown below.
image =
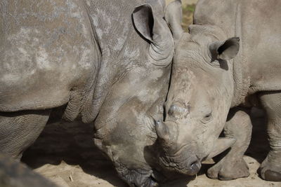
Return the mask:
[(207, 159), (213, 158), (214, 156), (223, 153), (226, 149), (230, 148), (235, 144), (236, 139), (234, 138), (218, 138), (218, 140), (214, 143), (214, 148), (211, 153), (208, 155)]

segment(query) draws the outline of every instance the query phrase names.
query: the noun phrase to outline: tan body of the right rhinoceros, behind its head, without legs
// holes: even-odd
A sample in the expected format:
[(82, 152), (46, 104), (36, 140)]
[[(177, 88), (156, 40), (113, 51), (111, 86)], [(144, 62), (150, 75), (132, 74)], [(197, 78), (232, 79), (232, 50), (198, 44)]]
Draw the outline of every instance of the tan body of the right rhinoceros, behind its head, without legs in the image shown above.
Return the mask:
[[(233, 62), (232, 106), (247, 104), (247, 96), (256, 92), (281, 90), (279, 5), (276, 0), (200, 1), (197, 5), (195, 25), (215, 25), (226, 37), (240, 38), (240, 52)], [(214, 11), (216, 14), (211, 14)]]

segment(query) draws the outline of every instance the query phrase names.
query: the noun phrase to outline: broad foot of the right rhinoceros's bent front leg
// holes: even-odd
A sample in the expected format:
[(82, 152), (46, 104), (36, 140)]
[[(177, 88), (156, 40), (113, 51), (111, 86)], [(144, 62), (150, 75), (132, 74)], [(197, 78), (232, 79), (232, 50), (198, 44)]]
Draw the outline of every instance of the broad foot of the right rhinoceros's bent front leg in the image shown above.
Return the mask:
[(243, 178), (249, 176), (249, 167), (243, 158), (230, 160), (225, 157), (208, 169), (207, 176), (211, 179), (220, 179), (223, 181)]

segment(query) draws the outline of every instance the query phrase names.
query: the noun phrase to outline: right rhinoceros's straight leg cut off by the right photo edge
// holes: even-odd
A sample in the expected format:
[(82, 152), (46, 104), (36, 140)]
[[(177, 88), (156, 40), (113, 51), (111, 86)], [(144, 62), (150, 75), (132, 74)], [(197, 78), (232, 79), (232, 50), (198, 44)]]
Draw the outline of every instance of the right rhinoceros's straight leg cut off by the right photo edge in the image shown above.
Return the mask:
[(270, 151), (259, 174), (267, 181), (281, 181), (281, 92), (263, 92), (260, 99), (268, 117)]

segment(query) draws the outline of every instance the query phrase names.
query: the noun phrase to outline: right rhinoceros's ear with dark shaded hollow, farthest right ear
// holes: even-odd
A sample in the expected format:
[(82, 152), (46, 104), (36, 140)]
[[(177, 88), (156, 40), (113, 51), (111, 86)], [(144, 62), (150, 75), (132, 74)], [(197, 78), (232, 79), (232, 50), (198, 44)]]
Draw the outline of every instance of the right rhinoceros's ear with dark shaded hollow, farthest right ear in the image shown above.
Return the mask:
[(209, 51), (213, 60), (231, 60), (240, 48), (240, 39), (233, 37), (226, 41), (216, 41), (209, 45)]

